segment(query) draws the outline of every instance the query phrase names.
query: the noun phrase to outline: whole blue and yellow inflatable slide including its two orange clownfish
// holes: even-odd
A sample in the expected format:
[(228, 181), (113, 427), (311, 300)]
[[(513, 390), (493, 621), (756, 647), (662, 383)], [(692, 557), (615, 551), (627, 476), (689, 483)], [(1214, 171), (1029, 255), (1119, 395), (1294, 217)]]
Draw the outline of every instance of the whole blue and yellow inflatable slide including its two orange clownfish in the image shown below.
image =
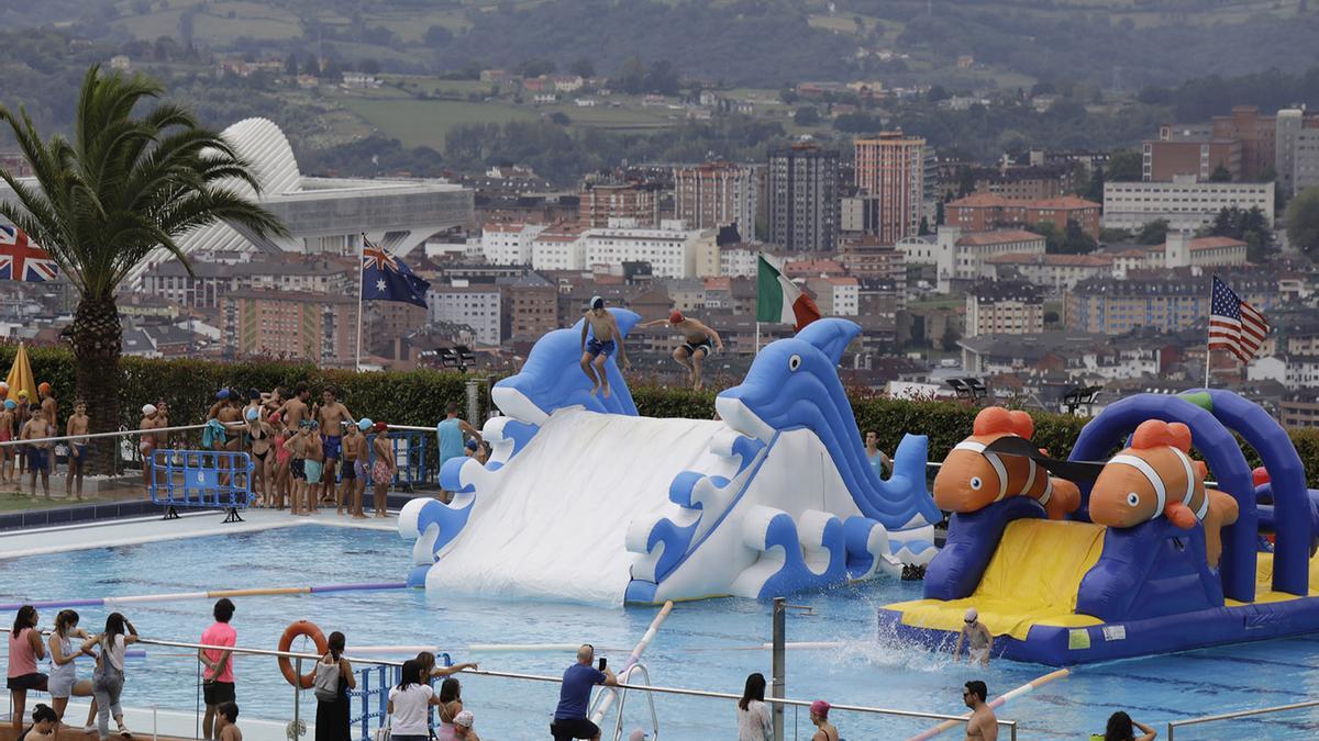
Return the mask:
[(995, 654), (1054, 666), (1319, 630), (1319, 492), (1264, 409), (1227, 390), (1124, 398), (1068, 460), (1010, 414), (981, 411), (944, 460), (947, 543), (925, 599), (882, 608), (881, 630), (947, 645), (975, 607)]

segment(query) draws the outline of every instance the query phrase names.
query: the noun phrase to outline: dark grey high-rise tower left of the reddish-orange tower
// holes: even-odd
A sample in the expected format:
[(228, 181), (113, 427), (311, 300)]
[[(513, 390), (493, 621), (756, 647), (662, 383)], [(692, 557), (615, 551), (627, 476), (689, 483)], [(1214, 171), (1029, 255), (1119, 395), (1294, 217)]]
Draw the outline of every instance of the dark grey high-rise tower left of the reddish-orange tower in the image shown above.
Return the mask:
[(832, 252), (839, 232), (839, 154), (794, 144), (769, 156), (769, 241), (786, 249)]

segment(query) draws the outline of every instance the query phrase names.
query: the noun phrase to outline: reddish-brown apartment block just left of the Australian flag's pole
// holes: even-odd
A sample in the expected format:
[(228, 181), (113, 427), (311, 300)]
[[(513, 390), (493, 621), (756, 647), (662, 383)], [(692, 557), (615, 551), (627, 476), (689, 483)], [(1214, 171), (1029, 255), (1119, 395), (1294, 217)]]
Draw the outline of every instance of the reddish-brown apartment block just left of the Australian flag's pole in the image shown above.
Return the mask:
[(220, 298), (220, 348), (230, 356), (261, 355), (355, 365), (357, 299), (291, 290), (239, 290)]

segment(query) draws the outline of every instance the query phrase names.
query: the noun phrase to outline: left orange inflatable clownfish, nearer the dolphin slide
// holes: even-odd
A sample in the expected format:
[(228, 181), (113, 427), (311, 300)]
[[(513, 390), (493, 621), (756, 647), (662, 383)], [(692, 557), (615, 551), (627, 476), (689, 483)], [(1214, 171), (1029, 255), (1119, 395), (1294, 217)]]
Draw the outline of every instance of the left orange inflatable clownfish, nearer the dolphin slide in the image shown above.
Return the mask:
[(1051, 519), (1062, 519), (1080, 506), (1080, 490), (1064, 479), (1053, 479), (1034, 460), (1020, 455), (985, 452), (985, 446), (1016, 435), (1030, 439), (1035, 423), (1025, 411), (987, 406), (976, 414), (972, 435), (943, 459), (934, 477), (934, 504), (946, 512), (976, 512), (1005, 497), (1038, 500)]

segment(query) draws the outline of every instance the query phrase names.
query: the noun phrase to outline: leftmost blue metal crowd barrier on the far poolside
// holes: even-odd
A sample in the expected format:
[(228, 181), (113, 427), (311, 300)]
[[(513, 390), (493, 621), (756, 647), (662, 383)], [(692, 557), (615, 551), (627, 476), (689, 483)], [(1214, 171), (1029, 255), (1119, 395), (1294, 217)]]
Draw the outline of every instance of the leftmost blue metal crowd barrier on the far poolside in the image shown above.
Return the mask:
[(226, 522), (241, 522), (239, 510), (252, 501), (253, 465), (245, 452), (157, 450), (150, 467), (152, 502), (166, 508), (165, 519), (177, 519), (185, 506), (223, 509)]

